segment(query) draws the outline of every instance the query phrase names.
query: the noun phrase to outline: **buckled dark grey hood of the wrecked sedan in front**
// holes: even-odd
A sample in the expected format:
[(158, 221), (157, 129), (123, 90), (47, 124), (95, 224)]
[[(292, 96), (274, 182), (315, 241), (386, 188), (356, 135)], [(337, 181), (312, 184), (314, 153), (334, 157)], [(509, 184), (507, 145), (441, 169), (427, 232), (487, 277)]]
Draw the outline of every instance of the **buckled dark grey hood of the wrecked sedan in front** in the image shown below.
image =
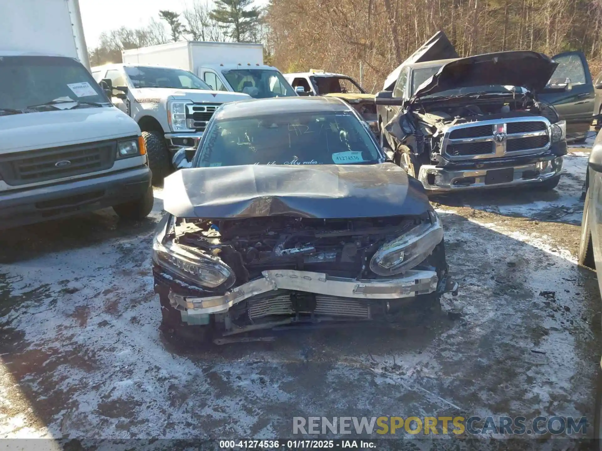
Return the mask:
[(163, 198), (172, 215), (205, 219), (371, 218), (430, 209), (421, 183), (392, 163), (182, 169), (165, 179)]

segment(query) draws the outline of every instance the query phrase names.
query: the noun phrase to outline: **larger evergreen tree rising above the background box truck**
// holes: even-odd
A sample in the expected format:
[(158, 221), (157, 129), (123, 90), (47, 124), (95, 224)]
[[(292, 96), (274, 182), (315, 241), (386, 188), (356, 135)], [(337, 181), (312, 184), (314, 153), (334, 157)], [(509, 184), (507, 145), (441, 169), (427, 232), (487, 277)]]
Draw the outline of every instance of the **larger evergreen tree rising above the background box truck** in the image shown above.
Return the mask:
[(259, 8), (250, 7), (253, 0), (216, 0), (216, 7), (209, 16), (228, 29), (236, 42), (246, 40), (259, 23)]

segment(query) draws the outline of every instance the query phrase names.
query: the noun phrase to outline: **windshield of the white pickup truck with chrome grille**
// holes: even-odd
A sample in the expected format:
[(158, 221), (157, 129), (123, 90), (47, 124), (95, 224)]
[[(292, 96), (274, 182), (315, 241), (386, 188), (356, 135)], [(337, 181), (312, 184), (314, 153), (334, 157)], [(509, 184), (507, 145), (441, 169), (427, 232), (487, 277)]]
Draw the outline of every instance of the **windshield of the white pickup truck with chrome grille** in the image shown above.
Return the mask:
[(182, 69), (169, 67), (125, 66), (123, 68), (134, 88), (179, 88), (211, 90), (211, 87), (194, 75)]

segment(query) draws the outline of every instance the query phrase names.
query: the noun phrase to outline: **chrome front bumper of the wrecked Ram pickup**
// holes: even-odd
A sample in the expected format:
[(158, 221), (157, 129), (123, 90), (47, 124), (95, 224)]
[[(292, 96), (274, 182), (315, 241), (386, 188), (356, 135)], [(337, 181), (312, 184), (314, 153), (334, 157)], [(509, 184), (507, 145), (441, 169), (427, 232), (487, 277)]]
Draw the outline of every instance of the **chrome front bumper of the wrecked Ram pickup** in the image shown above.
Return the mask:
[[(479, 163), (482, 163), (480, 161)], [(512, 169), (512, 179), (497, 183), (488, 179), (488, 171)], [(541, 158), (526, 164), (507, 164), (502, 167), (453, 168), (423, 165), (418, 180), (430, 192), (462, 191), (476, 188), (502, 188), (507, 186), (535, 185), (556, 177), (562, 172), (562, 156)]]

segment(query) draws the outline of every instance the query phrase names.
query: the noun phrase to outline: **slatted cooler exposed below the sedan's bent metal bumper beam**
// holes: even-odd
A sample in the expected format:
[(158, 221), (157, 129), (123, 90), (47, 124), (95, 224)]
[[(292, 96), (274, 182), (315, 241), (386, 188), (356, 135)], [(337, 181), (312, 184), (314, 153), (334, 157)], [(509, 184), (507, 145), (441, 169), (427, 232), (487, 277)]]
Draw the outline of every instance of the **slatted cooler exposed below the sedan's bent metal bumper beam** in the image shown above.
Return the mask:
[[(311, 302), (295, 302), (295, 292), (275, 290), (262, 295), (253, 296), (247, 300), (249, 318), (259, 319), (264, 316), (285, 315), (296, 313), (313, 313), (316, 316), (333, 318), (370, 319), (370, 306), (365, 301), (338, 296), (315, 295), (315, 305)], [(300, 293), (301, 296), (312, 296)]]

